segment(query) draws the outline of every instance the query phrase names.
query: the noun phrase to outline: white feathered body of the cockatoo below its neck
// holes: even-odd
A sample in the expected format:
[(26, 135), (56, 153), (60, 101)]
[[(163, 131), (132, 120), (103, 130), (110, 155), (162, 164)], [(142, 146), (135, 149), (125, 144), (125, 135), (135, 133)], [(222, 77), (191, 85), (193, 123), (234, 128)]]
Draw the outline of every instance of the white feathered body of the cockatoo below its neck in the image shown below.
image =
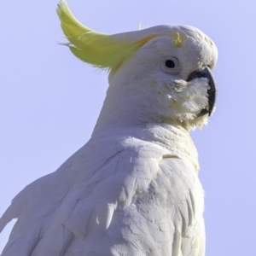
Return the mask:
[[(20, 256), (193, 252), (188, 246), (203, 225), (203, 193), (196, 155), (190, 162), (178, 149), (189, 133), (172, 125), (147, 125), (114, 134), (91, 139), (56, 172), (16, 196), (5, 214), (19, 221), (4, 256), (20, 252), (20, 247)], [(171, 147), (166, 136), (172, 138)]]

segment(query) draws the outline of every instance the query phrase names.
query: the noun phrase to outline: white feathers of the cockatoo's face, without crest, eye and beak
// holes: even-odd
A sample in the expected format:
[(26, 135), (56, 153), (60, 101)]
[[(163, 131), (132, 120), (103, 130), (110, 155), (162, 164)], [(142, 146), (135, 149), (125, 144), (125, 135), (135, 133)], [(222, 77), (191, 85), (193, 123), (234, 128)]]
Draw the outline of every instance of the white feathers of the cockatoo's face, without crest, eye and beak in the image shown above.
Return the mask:
[[(189, 130), (201, 128), (208, 117), (197, 115), (208, 108), (208, 81), (186, 80), (190, 73), (214, 67), (215, 45), (194, 27), (156, 26), (150, 30), (166, 36), (149, 40), (117, 72), (110, 73), (108, 95), (97, 126), (175, 121)], [(180, 45), (177, 33), (182, 38)], [(173, 57), (180, 66), (176, 73), (164, 67), (165, 61)]]

